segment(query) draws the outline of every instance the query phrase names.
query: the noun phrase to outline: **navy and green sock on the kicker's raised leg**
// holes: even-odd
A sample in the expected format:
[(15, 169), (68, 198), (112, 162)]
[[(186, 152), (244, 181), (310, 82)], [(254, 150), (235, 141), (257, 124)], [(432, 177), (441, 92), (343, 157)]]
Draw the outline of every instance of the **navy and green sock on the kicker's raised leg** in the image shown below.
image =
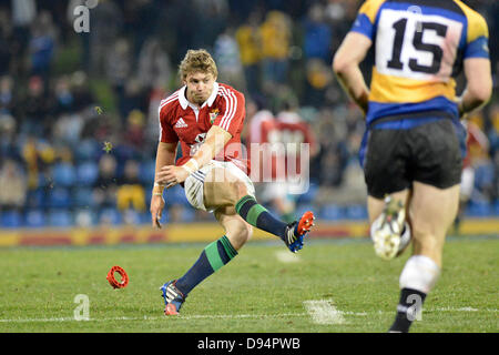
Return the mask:
[(263, 205), (258, 204), (253, 196), (241, 199), (235, 209), (244, 221), (259, 230), (285, 237), (287, 223), (275, 219)]

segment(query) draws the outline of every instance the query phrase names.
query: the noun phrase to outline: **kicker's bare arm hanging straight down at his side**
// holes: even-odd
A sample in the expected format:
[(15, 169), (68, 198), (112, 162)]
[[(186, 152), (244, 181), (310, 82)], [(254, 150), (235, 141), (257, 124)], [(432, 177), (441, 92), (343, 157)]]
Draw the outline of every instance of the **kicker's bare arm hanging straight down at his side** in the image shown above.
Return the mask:
[(160, 142), (157, 144), (156, 169), (155, 169), (156, 179), (154, 180), (154, 187), (152, 191), (150, 211), (152, 217), (152, 225), (159, 229), (161, 229), (160, 221), (164, 209), (163, 191), (165, 185), (157, 181), (157, 172), (161, 170), (162, 166), (175, 163), (176, 145), (177, 143), (163, 143), (163, 142)]

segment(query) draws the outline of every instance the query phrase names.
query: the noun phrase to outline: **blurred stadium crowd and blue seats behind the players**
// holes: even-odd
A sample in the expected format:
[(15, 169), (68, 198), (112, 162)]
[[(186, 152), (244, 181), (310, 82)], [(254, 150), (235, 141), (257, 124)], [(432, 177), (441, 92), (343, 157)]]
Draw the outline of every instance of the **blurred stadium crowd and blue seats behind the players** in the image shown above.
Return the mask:
[[(491, 33), (497, 88), (498, 1), (465, 1)], [(205, 48), (218, 81), (259, 109), (297, 102), (315, 131), (313, 236), (365, 236), (366, 191), (357, 151), (360, 112), (330, 62), (361, 1), (0, 0), (0, 245), (109, 244), (213, 239), (212, 215), (181, 187), (166, 193), (167, 226), (150, 229), (157, 105), (179, 85), (187, 49)], [(74, 8), (90, 9), (77, 33)], [(368, 59), (364, 69), (369, 68)], [(367, 70), (366, 70), (367, 73)], [(475, 169), (461, 233), (499, 231), (499, 101), (470, 120), (488, 144), (470, 146)], [(261, 235), (256, 235), (258, 237)]]

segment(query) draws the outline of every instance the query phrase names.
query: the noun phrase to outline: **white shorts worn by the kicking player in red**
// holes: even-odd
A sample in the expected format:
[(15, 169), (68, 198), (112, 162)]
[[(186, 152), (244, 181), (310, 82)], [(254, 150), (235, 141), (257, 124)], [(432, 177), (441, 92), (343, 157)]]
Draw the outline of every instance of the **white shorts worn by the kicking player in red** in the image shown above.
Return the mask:
[[(241, 169), (232, 162), (212, 160), (205, 166), (189, 175), (184, 182), (185, 196), (194, 209), (213, 212), (213, 210), (207, 210), (204, 205), (204, 180), (206, 179), (208, 172), (215, 168), (226, 169), (231, 175), (245, 183), (249, 195), (255, 196), (255, 186), (253, 185), (253, 182)], [(221, 176), (221, 179), (223, 179), (223, 176)]]

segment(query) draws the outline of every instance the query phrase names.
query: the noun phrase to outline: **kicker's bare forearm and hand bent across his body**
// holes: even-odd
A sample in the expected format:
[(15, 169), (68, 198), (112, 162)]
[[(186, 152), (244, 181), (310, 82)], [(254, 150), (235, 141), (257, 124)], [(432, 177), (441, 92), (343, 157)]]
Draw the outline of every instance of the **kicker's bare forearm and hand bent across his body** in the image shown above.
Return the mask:
[(200, 170), (214, 159), (231, 139), (231, 133), (217, 125), (213, 125), (207, 131), (206, 140), (196, 154), (182, 166), (173, 164), (163, 166), (156, 174), (156, 182), (169, 187), (184, 182), (191, 173)]

